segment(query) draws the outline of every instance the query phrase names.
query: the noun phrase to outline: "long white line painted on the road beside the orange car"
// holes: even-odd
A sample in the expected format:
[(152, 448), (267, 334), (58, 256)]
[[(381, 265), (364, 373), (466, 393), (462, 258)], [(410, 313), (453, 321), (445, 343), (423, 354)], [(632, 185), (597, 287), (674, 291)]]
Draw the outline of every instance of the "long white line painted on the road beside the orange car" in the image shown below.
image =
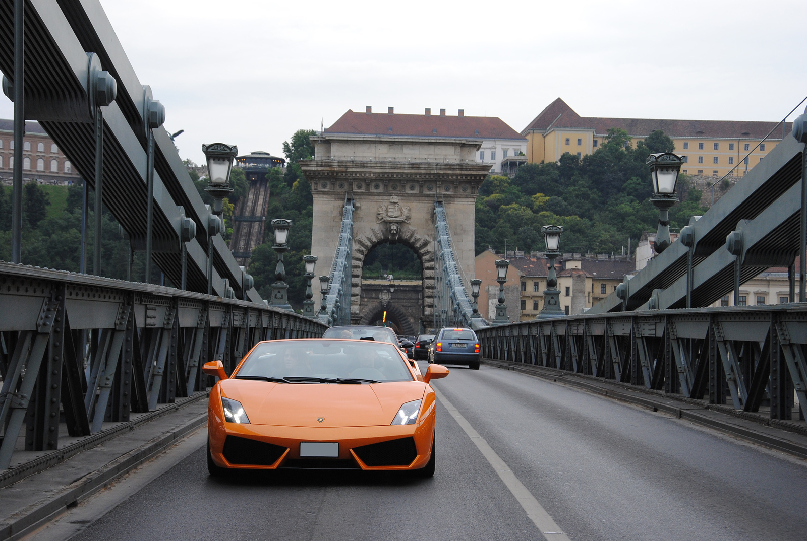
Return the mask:
[[(432, 388), (434, 389), (434, 385), (432, 385)], [(437, 399), (440, 400), (442, 405), (445, 406), (445, 409), (451, 412), (459, 426), (462, 427), (462, 430), (465, 431), (466, 435), (470, 438), (470, 441), (474, 442), (479, 451), (482, 452), (482, 455), (487, 459), (488, 464), (491, 464), (500, 479), (504, 482), (504, 485), (506, 485), (512, 495), (516, 497), (516, 500), (521, 504), (521, 508), (525, 510), (529, 519), (533, 521), (533, 524), (535, 524), (538, 531), (541, 532), (541, 535), (544, 535), (544, 539), (550, 539), (546, 537), (546, 535), (552, 535), (553, 541), (571, 541), (571, 539), (562, 532), (560, 526), (554, 522), (554, 519), (550, 517), (550, 514), (538, 503), (533, 494), (529, 492), (527, 487), (518, 480), (518, 477), (516, 477), (516, 474), (512, 472), (510, 467), (504, 464), (504, 460), (501, 460), (499, 455), (487, 444), (487, 441), (479, 435), (479, 432), (475, 431), (474, 427), (470, 426), (470, 422), (459, 413), (457, 408), (449, 402), (448, 398), (437, 389), (434, 389), (434, 393), (437, 395)]]

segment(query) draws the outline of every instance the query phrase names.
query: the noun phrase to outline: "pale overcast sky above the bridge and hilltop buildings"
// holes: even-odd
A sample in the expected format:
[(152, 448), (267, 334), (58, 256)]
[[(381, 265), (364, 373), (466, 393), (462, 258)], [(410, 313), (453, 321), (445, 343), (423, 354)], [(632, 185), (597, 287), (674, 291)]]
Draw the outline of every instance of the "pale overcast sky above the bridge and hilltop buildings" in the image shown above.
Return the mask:
[(282, 156), (368, 105), (521, 131), (558, 97), (582, 116), (780, 120), (807, 95), (804, 0), (101, 3), (197, 163), (215, 141)]

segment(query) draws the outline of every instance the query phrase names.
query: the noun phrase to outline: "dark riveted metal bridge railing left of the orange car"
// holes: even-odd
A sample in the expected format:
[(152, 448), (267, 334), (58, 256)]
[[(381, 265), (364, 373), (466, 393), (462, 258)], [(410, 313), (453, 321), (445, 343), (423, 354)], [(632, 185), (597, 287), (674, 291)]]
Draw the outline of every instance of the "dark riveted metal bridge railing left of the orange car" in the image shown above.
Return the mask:
[(208, 360), (229, 373), (260, 340), (325, 328), (265, 304), (0, 262), (0, 469), (23, 422), (26, 450), (56, 450), (61, 416), (68, 435), (90, 435), (205, 391)]

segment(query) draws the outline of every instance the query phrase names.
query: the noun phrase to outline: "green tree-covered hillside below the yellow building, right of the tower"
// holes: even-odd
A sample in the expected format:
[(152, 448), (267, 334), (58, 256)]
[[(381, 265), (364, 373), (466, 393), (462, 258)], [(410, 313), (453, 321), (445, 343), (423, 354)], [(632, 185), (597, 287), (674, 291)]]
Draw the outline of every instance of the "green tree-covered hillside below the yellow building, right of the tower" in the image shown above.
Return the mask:
[[(642, 231), (655, 231), (659, 211), (652, 196), (647, 156), (673, 152), (672, 140), (654, 131), (630, 148), (625, 131), (611, 130), (604, 144), (579, 160), (564, 154), (558, 163), (525, 164), (515, 177), (491, 176), (476, 201), (476, 253), (488, 246), (497, 252), (545, 248), (541, 226), (563, 226), (564, 252), (609, 253), (635, 243)], [(626, 148), (627, 145), (627, 148)], [(673, 228), (703, 214), (700, 192), (679, 177), (681, 202), (670, 211)]]

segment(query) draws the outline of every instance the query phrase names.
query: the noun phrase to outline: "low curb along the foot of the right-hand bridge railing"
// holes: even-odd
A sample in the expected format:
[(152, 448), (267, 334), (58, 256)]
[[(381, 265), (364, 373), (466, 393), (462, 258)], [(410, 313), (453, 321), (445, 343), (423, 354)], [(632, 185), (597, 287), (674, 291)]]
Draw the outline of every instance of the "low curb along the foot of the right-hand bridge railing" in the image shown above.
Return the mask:
[[(788, 439), (777, 437), (776, 434), (765, 434), (762, 431), (756, 431), (751, 428), (739, 426), (733, 422), (724, 421), (717, 418), (717, 416), (719, 415), (729, 418), (736, 418), (738, 421), (744, 420), (747, 422), (754, 422), (755, 424), (759, 424), (760, 427), (767, 427), (776, 431), (790, 433), (796, 438), (804, 437), (804, 431), (800, 430), (799, 427), (790, 427), (788, 425), (787, 429), (790, 430), (787, 430), (780, 426), (784, 423), (768, 422), (775, 419), (766, 419), (760, 415), (754, 414), (738, 415), (734, 414), (734, 412), (726, 411), (723, 407), (712, 408), (708, 405), (701, 404), (700, 402), (679, 397), (672, 397), (667, 394), (659, 395), (658, 397), (654, 394), (641, 396), (641, 389), (637, 389), (633, 392), (630, 392), (627, 389), (625, 389), (625, 392), (617, 389), (604, 389), (604, 387), (601, 385), (596, 385), (596, 383), (599, 383), (600, 381), (599, 378), (595, 381), (588, 382), (584, 381), (584, 377), (581, 374), (570, 374), (569, 372), (556, 370), (554, 368), (545, 368), (520, 363), (508, 363), (492, 359), (483, 359), (482, 362), (483, 364), (487, 364), (494, 368), (521, 372), (529, 376), (540, 377), (544, 380), (572, 385), (578, 387), (579, 389), (585, 389), (592, 393), (599, 394), (600, 396), (614, 398), (622, 402), (629, 402), (637, 406), (646, 407), (649, 410), (663, 411), (665, 413), (675, 415), (675, 417), (679, 419), (686, 419), (701, 426), (713, 428), (718, 431), (746, 439), (752, 443), (759, 443), (765, 447), (771, 447), (777, 451), (786, 452), (790, 455), (807, 459), (807, 442), (797, 443), (794, 441), (789, 441)], [(796, 428), (797, 430), (792, 430), (793, 428)]]

